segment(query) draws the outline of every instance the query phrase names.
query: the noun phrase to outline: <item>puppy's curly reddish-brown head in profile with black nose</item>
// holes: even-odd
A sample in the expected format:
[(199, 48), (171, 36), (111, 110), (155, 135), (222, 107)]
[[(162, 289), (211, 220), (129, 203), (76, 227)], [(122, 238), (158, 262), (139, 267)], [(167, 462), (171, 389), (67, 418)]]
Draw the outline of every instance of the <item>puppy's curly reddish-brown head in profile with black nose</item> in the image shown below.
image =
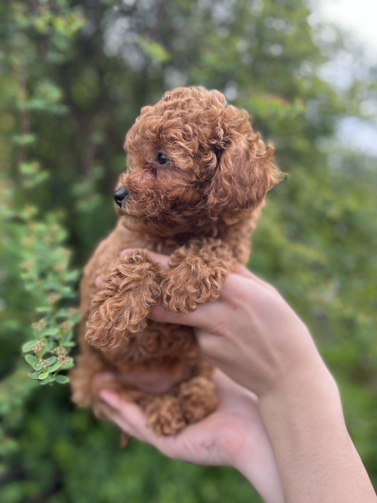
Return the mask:
[(144, 107), (127, 134), (121, 214), (160, 235), (234, 222), (280, 180), (244, 110), (205, 88), (177, 88)]

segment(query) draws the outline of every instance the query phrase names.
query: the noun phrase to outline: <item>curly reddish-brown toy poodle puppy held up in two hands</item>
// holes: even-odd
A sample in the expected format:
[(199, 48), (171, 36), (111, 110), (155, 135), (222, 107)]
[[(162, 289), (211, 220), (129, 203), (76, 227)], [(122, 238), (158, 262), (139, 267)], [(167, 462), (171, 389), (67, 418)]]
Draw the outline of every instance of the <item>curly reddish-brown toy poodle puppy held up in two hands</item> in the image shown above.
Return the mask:
[[(191, 328), (150, 321), (148, 312), (156, 302), (187, 313), (216, 299), (236, 262), (248, 261), (264, 197), (281, 178), (248, 114), (202, 87), (174, 89), (144, 107), (125, 150), (114, 196), (120, 218), (81, 282), (73, 401), (96, 410), (94, 377), (110, 371), (117, 380), (109, 386), (123, 382), (149, 427), (173, 435), (215, 409), (213, 368)], [(136, 249), (121, 254), (125, 248)], [(145, 250), (170, 255), (169, 271)]]

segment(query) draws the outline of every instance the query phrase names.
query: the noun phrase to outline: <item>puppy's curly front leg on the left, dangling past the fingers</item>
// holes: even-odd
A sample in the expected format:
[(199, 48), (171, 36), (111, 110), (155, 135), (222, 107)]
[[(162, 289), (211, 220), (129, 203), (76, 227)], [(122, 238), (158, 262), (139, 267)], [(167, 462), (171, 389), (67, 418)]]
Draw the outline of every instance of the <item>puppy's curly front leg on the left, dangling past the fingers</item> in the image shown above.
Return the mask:
[(124, 346), (131, 333), (146, 326), (146, 315), (160, 297), (162, 274), (144, 251), (121, 258), (91, 301), (85, 339), (102, 350)]

